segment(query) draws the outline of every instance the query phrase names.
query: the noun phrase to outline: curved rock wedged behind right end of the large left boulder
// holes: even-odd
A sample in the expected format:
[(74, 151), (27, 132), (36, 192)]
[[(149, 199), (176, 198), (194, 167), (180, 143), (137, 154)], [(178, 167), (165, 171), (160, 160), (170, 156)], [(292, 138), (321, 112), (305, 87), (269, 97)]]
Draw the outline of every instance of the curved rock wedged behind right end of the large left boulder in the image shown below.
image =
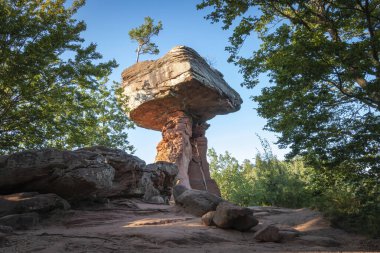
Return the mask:
[(82, 151), (101, 155), (105, 158), (105, 162), (115, 170), (112, 189), (107, 196), (137, 197), (143, 194), (139, 189), (145, 168), (143, 160), (137, 156), (127, 154), (123, 150), (103, 146), (82, 148), (76, 152)]

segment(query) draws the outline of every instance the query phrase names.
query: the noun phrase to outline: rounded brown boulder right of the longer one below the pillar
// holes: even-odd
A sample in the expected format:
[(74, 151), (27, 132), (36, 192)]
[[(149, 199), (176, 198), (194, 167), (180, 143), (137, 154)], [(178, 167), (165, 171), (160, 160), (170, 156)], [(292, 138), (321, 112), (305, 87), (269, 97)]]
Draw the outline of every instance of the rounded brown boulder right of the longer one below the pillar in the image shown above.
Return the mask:
[(220, 228), (232, 228), (239, 231), (247, 231), (258, 223), (251, 209), (229, 202), (222, 202), (217, 206), (213, 221)]

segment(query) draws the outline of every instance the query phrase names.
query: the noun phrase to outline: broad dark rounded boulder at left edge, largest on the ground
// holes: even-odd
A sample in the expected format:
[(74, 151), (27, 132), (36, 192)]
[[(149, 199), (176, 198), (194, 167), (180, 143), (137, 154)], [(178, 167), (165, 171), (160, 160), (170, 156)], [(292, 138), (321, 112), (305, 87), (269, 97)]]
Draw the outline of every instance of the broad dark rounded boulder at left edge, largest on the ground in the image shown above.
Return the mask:
[(56, 193), (71, 201), (106, 195), (115, 174), (97, 153), (55, 149), (0, 156), (0, 168), (0, 193)]

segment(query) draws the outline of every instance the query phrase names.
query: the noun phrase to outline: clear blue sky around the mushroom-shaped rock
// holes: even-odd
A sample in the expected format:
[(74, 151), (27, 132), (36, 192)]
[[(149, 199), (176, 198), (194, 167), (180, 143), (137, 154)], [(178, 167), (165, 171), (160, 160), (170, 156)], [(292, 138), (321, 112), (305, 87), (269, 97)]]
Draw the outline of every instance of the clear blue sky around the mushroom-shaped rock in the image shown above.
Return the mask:
[[(227, 63), (228, 53), (224, 48), (228, 45), (228, 37), (232, 31), (223, 31), (220, 24), (210, 24), (203, 17), (207, 10), (196, 10), (200, 0), (87, 0), (76, 18), (84, 20), (87, 30), (82, 34), (86, 42), (98, 45), (98, 51), (105, 60), (115, 59), (119, 67), (114, 70), (111, 80), (121, 81), (123, 69), (135, 63), (136, 44), (129, 39), (128, 31), (141, 25), (144, 17), (150, 16), (155, 22), (162, 21), (163, 30), (153, 39), (159, 49), (159, 55), (143, 55), (140, 60), (157, 59), (176, 45), (186, 45), (195, 49), (200, 55), (214, 62), (214, 67), (223, 73), (227, 83), (242, 97), (240, 111), (216, 116), (206, 136), (209, 148), (218, 153), (229, 151), (242, 161), (251, 159), (261, 150), (256, 134), (266, 138), (271, 144), (276, 141), (274, 133), (263, 131), (265, 119), (260, 118), (254, 110), (255, 104), (249, 98), (260, 92), (260, 87), (268, 85), (263, 77), (260, 85), (253, 90), (240, 87), (242, 75), (239, 69)], [(259, 41), (251, 38), (241, 51), (249, 54), (257, 48)], [(135, 155), (147, 163), (153, 162), (156, 145), (161, 133), (140, 127), (129, 130), (129, 140), (136, 148)], [(282, 158), (286, 153), (272, 145), (273, 153)]]

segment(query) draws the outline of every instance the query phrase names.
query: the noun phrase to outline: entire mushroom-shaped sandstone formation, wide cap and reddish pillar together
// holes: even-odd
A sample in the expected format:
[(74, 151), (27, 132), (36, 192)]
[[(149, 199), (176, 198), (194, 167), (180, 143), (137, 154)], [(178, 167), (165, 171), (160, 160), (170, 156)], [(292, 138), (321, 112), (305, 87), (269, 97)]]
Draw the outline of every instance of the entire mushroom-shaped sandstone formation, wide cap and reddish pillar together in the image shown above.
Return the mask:
[(179, 184), (220, 195), (206, 159), (207, 120), (240, 109), (242, 99), (193, 49), (177, 46), (122, 73), (129, 117), (162, 132), (156, 161), (178, 166)]

